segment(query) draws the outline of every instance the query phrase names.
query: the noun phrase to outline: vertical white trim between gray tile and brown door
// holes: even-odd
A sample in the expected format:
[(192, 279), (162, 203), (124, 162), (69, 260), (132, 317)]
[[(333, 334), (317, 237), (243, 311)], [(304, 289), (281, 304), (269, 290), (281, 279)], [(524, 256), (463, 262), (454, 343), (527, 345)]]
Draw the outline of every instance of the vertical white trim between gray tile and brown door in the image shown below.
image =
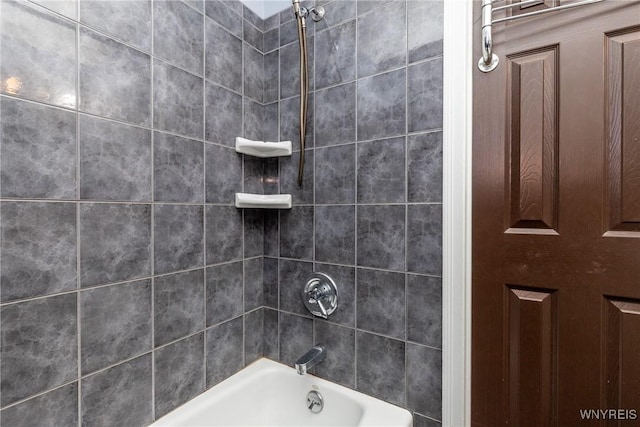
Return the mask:
[(471, 415), (473, 2), (444, 1), (442, 425)]

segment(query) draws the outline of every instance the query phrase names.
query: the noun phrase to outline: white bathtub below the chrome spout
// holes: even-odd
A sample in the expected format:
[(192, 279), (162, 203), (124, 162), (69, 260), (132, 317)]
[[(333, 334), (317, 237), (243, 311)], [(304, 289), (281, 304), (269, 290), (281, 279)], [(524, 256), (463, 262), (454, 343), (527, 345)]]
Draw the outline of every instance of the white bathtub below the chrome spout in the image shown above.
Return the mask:
[[(311, 390), (324, 399), (318, 414), (306, 406)], [(405, 409), (260, 359), (151, 426), (411, 427), (411, 423), (411, 414)]]

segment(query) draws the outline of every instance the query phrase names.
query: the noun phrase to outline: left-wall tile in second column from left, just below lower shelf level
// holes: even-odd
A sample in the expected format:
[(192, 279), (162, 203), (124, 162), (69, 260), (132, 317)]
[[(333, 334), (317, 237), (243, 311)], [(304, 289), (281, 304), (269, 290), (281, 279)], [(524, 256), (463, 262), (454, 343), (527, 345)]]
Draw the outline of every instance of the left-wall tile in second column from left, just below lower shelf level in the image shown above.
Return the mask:
[(149, 205), (80, 205), (81, 286), (151, 274)]

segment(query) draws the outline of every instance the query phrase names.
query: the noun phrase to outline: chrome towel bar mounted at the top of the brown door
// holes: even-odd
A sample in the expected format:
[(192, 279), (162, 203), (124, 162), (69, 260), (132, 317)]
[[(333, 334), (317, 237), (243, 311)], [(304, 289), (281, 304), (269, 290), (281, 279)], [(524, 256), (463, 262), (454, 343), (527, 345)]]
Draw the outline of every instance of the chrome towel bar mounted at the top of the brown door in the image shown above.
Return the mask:
[(540, 4), (539, 0), (520, 0), (504, 6), (494, 7), (494, 3), (501, 3), (504, 0), (482, 0), (482, 58), (478, 61), (478, 68), (483, 73), (493, 71), (498, 66), (500, 60), (498, 55), (493, 53), (493, 40), (491, 30), (493, 24), (501, 22), (513, 21), (514, 19), (528, 18), (530, 16), (543, 15), (558, 10), (571, 9), (574, 7), (584, 6), (591, 3), (600, 3), (604, 0), (582, 0), (575, 3), (568, 3), (562, 6), (553, 6), (548, 9), (536, 10), (533, 12), (522, 13), (519, 15), (511, 15), (500, 19), (493, 19), (493, 13), (502, 10), (511, 9), (513, 7), (536, 6)]

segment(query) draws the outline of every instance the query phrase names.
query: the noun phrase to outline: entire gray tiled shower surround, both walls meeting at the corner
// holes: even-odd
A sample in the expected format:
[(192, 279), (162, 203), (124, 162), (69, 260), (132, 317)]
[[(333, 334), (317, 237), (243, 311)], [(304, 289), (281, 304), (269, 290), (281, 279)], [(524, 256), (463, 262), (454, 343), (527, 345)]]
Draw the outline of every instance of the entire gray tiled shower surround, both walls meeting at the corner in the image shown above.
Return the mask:
[[(441, 416), (442, 3), (0, 3), (0, 422), (144, 426), (261, 356)], [(296, 146), (297, 144), (294, 144)], [(240, 211), (237, 191), (291, 193)], [(300, 300), (311, 271), (338, 311)]]

